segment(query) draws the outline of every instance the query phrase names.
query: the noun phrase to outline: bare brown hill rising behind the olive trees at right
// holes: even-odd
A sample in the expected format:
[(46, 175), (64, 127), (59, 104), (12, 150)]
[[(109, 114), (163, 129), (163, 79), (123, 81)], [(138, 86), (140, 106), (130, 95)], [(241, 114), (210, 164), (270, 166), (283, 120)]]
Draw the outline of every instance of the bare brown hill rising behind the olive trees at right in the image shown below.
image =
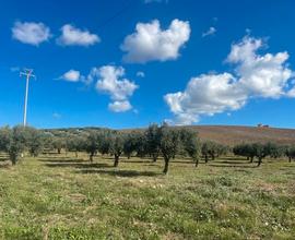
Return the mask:
[(295, 144), (295, 129), (239, 127), (239, 125), (191, 125), (202, 140), (235, 145), (243, 142), (276, 142)]

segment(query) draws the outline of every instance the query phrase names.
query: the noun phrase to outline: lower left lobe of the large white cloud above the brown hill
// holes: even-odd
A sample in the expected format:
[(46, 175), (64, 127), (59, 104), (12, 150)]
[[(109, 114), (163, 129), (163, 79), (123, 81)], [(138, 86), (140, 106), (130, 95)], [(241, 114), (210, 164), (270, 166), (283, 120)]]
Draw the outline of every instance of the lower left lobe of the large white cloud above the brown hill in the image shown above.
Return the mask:
[(212, 116), (226, 110), (236, 110), (246, 104), (247, 95), (240, 91), (229, 73), (203, 74), (192, 77), (185, 92), (167, 94), (165, 100), (176, 122), (190, 124), (201, 115)]

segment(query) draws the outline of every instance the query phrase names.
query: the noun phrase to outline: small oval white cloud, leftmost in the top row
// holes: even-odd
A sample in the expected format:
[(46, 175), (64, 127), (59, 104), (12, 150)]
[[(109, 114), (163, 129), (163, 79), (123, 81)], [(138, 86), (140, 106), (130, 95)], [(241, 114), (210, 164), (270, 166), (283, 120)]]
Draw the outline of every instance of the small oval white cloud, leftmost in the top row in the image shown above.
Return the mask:
[(38, 46), (50, 38), (50, 29), (43, 23), (15, 22), (12, 27), (12, 38), (23, 44)]

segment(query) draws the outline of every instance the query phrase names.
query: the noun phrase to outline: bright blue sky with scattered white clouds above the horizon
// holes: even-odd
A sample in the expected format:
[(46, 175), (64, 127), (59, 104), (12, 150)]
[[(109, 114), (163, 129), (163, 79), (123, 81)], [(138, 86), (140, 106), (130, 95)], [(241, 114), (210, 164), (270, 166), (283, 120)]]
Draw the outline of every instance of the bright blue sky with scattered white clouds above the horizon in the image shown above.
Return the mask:
[(0, 125), (295, 128), (292, 0), (4, 0)]

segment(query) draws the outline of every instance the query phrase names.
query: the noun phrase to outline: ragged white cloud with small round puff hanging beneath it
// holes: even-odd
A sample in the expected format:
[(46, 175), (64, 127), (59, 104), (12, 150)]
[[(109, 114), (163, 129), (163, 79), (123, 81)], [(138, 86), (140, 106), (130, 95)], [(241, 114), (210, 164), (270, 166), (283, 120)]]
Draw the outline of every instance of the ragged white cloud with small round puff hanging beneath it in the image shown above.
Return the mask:
[(132, 108), (128, 98), (139, 87), (135, 83), (125, 79), (125, 69), (121, 67), (104, 65), (93, 69), (93, 77), (98, 76), (96, 89), (110, 95), (113, 104), (109, 109), (116, 112), (127, 111)]

